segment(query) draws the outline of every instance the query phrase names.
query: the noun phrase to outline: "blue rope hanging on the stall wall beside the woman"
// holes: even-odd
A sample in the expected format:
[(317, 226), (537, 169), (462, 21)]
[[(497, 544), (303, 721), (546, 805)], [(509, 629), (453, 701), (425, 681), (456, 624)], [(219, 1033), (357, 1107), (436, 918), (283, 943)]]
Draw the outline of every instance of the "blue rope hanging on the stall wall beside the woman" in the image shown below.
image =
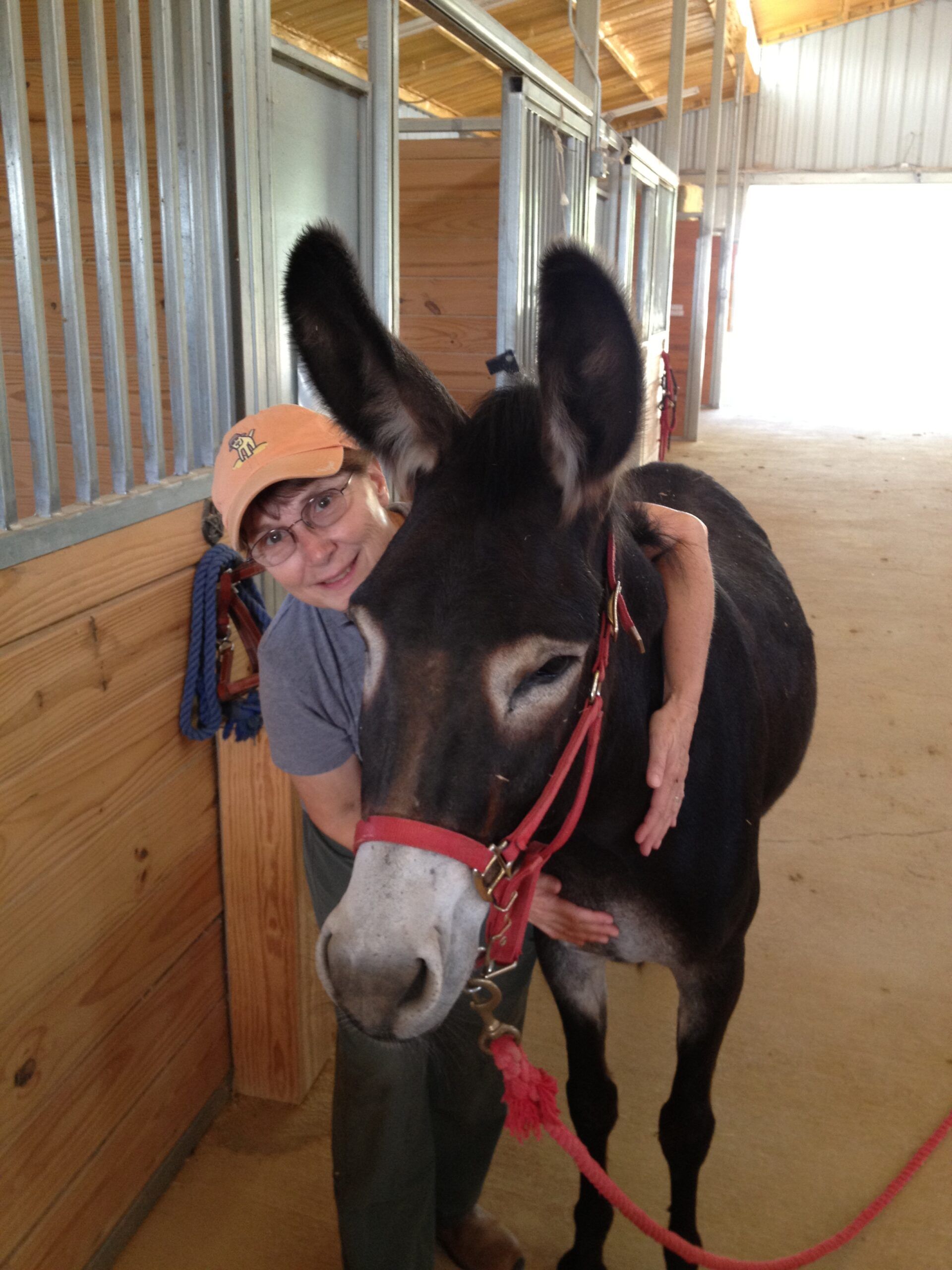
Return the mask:
[[(253, 688), (231, 701), (218, 698), (218, 664), (216, 649), (218, 579), (225, 569), (242, 564), (241, 556), (220, 542), (206, 551), (195, 568), (192, 587), (192, 630), (188, 646), (185, 683), (179, 707), (179, 729), (189, 740), (208, 740), (223, 725), (225, 739), (249, 740), (261, 726), (261, 705)], [(235, 589), (259, 629), (268, 627), (270, 617), (260, 592), (250, 579)]]

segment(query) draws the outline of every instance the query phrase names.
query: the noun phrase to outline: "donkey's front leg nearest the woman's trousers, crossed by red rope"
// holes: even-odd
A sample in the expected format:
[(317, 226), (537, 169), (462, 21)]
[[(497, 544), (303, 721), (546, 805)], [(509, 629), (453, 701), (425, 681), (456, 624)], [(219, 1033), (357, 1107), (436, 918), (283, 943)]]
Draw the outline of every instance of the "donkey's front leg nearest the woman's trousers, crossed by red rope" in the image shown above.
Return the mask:
[[(569, 1111), (579, 1138), (604, 1167), (608, 1135), (618, 1119), (618, 1090), (605, 1066), (605, 963), (538, 933), (537, 940), (542, 970), (562, 1016)], [(613, 1215), (608, 1200), (583, 1177), (575, 1205), (575, 1243), (559, 1270), (604, 1270), (602, 1248)]]

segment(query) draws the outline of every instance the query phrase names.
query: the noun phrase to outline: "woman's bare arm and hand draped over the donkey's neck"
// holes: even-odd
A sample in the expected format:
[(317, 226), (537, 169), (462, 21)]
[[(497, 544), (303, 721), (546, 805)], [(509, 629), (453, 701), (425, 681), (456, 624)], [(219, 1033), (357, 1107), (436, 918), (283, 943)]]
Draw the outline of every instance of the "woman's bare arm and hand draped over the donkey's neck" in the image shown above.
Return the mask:
[(647, 784), (651, 804), (635, 833), (644, 856), (661, 846), (678, 823), (688, 773), (688, 751), (704, 686), (713, 626), (713, 572), (707, 527), (696, 516), (646, 503), (655, 526), (673, 545), (654, 555), (668, 601), (664, 625), (664, 705), (649, 725)]

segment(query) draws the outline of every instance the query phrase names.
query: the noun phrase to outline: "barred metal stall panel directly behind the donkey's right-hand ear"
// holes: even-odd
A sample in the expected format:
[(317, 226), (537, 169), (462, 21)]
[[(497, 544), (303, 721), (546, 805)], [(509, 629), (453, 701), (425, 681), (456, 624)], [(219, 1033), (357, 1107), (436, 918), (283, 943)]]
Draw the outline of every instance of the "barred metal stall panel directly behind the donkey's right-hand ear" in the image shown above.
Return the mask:
[(555, 237), (588, 239), (589, 124), (537, 84), (503, 84), (496, 339), (536, 364), (538, 264)]

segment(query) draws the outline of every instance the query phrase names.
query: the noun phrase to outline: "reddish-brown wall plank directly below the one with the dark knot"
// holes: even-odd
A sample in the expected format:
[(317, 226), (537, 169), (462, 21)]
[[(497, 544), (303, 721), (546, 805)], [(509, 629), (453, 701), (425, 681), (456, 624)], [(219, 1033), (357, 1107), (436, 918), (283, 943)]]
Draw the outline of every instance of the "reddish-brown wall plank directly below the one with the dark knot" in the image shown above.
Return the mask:
[[(206, 931), (0, 1144), (0, 1259), (8, 1256), (225, 996), (221, 922)], [(216, 1072), (216, 1083), (221, 1072)], [(140, 1181), (141, 1185), (141, 1181)]]

